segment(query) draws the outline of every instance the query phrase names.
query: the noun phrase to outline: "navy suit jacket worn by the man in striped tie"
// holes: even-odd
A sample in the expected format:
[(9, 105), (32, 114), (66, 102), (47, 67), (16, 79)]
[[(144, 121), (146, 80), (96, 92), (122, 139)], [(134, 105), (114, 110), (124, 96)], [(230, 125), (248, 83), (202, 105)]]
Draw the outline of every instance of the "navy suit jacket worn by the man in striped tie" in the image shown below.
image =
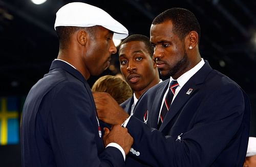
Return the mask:
[(240, 86), (206, 61), (181, 88), (156, 130), (168, 83), (148, 89), (137, 102), (126, 126), (134, 138), (130, 155), (154, 167), (241, 167), (248, 144), (250, 104)]

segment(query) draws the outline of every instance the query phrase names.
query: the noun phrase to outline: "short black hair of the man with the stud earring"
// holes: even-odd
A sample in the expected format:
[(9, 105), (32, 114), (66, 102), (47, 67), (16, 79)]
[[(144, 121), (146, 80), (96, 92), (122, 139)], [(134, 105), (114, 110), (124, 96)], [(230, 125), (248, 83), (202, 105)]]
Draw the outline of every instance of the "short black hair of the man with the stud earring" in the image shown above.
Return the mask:
[(198, 33), (198, 42), (200, 41), (200, 24), (196, 16), (189, 10), (183, 8), (171, 8), (165, 10), (155, 17), (152, 24), (158, 25), (166, 20), (171, 20), (173, 22), (173, 32), (181, 40), (183, 40), (189, 32), (196, 31)]

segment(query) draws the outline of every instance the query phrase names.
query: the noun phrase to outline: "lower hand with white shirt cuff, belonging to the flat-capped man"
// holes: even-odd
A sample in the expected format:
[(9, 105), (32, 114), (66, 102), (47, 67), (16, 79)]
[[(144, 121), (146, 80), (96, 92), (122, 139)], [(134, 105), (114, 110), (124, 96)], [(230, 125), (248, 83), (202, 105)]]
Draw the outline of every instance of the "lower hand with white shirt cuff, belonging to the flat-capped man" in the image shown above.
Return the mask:
[(108, 128), (104, 128), (103, 142), (105, 147), (111, 142), (117, 143), (123, 148), (125, 155), (127, 155), (133, 145), (133, 137), (128, 133), (126, 128), (120, 125), (114, 125), (111, 131)]

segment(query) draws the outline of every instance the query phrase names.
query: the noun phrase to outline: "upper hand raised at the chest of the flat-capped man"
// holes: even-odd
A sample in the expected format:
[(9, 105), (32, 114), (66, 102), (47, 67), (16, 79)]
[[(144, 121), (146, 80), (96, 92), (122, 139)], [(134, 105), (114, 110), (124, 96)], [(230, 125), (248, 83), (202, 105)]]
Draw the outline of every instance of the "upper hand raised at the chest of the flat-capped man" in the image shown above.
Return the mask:
[(98, 117), (111, 125), (121, 125), (130, 115), (110, 96), (109, 93), (93, 92)]

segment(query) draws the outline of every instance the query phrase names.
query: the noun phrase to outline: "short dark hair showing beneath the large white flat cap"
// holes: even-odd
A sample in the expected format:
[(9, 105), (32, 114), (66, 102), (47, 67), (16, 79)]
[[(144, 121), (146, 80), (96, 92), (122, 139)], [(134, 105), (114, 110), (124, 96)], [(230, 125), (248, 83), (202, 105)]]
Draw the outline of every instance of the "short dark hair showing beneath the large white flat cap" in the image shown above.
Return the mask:
[(73, 26), (59, 26), (56, 27), (56, 33), (59, 39), (59, 49), (67, 49), (70, 37), (73, 33), (80, 29), (86, 30), (90, 33), (90, 36), (93, 37), (93, 34), (96, 32), (94, 29), (96, 26), (93, 27), (73, 27)]

